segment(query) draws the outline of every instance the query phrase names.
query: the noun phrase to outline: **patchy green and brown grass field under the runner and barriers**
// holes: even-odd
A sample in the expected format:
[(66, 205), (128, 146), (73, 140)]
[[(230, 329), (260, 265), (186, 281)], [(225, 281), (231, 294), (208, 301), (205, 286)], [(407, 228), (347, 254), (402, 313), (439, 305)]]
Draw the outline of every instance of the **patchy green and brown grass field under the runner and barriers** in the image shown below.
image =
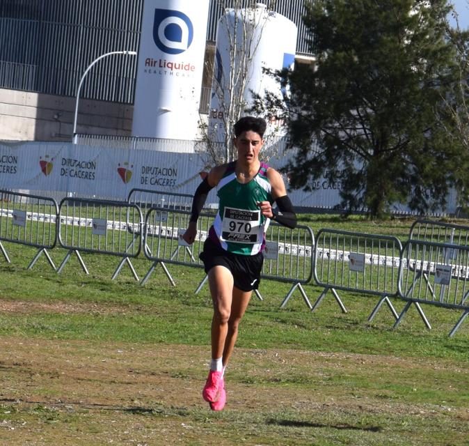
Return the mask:
[[(305, 216), (320, 228), (406, 240), (412, 220)], [(462, 222), (466, 223), (467, 222)], [(310, 312), (290, 285), (263, 281), (226, 372), (228, 402), (212, 413), (200, 392), (212, 307), (202, 270), (160, 266), (145, 286), (119, 259), (83, 254), (58, 275), (29, 247), (0, 254), (1, 445), (469, 445), (469, 321), (424, 307), (398, 328), (373, 295), (328, 293)], [(65, 250), (51, 256), (60, 264)], [(150, 263), (136, 259), (142, 277)], [(307, 284), (311, 301), (321, 293)], [(392, 300), (399, 311), (404, 302)]]

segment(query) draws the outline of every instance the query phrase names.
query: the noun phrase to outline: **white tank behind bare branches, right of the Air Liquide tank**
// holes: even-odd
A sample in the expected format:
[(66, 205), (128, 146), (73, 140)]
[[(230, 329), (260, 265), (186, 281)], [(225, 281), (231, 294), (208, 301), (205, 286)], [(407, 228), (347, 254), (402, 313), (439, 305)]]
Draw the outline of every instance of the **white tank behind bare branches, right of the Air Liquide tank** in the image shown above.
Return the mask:
[[(253, 93), (264, 96), (269, 91), (285, 98), (286, 91), (265, 70), (293, 69), (296, 37), (296, 24), (267, 10), (263, 3), (257, 3), (255, 8), (225, 10), (225, 15), (218, 20), (216, 34), (210, 140), (225, 140), (224, 122), (233, 103), (241, 105), (243, 116), (253, 105)], [(278, 123), (269, 123), (267, 134), (274, 128), (278, 128)]]

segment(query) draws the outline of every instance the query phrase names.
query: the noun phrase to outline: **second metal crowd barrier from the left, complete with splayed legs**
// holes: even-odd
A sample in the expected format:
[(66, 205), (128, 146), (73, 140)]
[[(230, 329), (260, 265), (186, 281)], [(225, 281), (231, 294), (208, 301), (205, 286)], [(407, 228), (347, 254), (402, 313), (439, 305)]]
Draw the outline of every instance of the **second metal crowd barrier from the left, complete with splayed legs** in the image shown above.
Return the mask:
[(127, 263), (138, 280), (130, 261), (141, 252), (143, 216), (138, 206), (125, 201), (65, 198), (59, 205), (58, 218), (58, 242), (68, 252), (57, 272), (76, 254), (81, 268), (89, 274), (80, 252), (90, 252), (122, 257), (112, 279)]

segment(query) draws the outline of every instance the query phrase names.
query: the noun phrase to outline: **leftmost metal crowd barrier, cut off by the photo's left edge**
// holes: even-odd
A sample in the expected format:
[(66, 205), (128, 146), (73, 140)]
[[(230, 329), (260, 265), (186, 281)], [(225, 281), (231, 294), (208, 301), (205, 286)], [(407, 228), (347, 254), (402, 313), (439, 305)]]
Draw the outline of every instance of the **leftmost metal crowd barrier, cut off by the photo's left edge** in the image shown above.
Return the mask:
[[(0, 240), (38, 248), (28, 269), (33, 268), (44, 254), (50, 266), (56, 270), (48, 252), (57, 243), (56, 201), (38, 195), (0, 190), (0, 206)], [(10, 263), (1, 241), (0, 250)]]

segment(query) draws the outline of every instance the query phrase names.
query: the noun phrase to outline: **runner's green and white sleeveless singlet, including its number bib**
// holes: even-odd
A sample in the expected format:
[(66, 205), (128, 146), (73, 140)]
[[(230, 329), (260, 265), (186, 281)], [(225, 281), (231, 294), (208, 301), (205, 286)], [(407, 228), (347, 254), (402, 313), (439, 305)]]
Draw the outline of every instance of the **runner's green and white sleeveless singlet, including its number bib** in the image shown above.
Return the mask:
[(269, 218), (262, 215), (257, 203), (273, 203), (271, 184), (267, 179), (269, 166), (263, 162), (254, 178), (239, 183), (236, 162), (230, 162), (217, 186), (220, 199), (218, 213), (210, 229), (210, 238), (233, 254), (253, 256), (262, 250)]

